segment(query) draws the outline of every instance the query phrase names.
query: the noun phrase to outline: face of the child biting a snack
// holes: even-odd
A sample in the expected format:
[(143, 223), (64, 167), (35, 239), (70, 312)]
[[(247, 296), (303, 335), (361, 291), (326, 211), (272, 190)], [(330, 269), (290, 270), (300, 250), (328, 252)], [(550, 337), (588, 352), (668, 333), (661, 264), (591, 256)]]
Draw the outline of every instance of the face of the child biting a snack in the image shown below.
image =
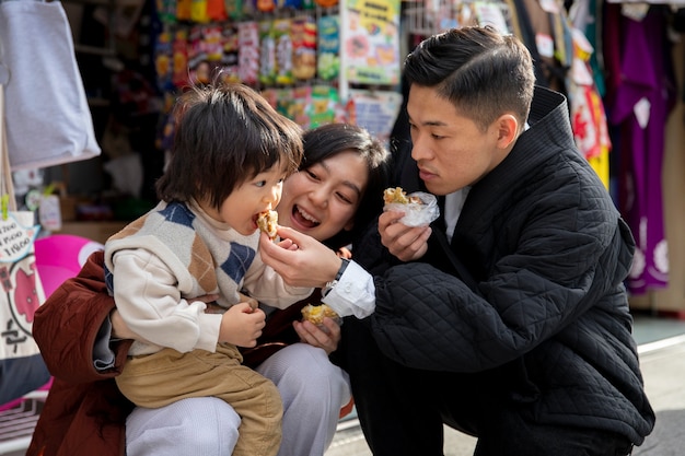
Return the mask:
[(276, 164), (235, 187), (219, 210), (204, 209), (213, 219), (248, 236), (257, 230), (256, 220), (259, 212), (276, 208), (280, 201), (285, 177), (286, 173)]

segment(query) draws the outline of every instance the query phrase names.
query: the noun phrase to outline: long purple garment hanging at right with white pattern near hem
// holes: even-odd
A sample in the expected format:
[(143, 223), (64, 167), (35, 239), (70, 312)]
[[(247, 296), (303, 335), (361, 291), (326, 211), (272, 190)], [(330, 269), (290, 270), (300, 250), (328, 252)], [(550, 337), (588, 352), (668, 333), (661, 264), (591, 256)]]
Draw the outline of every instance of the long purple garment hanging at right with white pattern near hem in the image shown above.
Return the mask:
[[(622, 78), (609, 121), (620, 127), (620, 148), (615, 151), (620, 153), (619, 209), (637, 243), (627, 285), (642, 294), (669, 281), (661, 175), (665, 126), (676, 91), (662, 10), (650, 7), (642, 21), (626, 16), (620, 21)], [(640, 125), (636, 110), (648, 113), (647, 125)]]

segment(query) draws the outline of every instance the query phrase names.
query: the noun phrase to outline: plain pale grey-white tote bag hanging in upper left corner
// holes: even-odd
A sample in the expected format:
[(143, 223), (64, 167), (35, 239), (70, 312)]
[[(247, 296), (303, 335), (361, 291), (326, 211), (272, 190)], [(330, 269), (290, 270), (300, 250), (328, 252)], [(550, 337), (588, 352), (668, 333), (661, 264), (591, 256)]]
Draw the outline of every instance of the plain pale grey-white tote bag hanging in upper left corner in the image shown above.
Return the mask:
[(0, 84), (12, 171), (100, 154), (59, 1), (0, 0)]

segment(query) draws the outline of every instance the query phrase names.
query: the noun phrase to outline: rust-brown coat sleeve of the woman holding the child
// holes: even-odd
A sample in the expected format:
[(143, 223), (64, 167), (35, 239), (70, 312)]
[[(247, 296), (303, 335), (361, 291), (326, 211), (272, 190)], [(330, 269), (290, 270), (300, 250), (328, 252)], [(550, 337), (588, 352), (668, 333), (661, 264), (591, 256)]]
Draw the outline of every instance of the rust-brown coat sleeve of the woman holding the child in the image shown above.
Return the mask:
[(50, 373), (65, 382), (85, 383), (119, 374), (131, 341), (113, 342), (113, 369), (93, 364), (97, 332), (114, 308), (106, 291), (103, 253), (91, 254), (76, 278), (65, 281), (35, 314), (33, 336)]

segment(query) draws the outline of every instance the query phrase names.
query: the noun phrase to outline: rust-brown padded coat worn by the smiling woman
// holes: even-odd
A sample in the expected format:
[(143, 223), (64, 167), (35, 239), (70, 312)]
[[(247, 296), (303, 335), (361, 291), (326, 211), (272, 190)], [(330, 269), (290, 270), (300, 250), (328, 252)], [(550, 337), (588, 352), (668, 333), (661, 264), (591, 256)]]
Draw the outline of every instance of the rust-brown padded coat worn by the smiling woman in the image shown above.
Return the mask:
[(91, 254), (35, 314), (33, 335), (55, 376), (26, 456), (120, 456), (132, 409), (117, 389), (131, 341), (112, 342), (115, 366), (93, 365), (97, 331), (114, 308), (103, 273), (103, 253)]

